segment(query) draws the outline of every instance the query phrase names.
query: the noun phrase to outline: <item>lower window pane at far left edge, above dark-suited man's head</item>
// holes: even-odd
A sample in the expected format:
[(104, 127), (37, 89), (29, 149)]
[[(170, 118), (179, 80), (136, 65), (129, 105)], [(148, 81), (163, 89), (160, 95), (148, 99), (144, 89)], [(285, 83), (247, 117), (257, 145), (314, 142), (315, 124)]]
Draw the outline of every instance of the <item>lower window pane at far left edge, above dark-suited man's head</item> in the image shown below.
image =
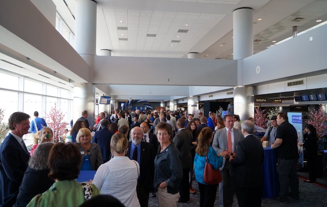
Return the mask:
[(3, 122), (8, 123), (10, 115), (18, 111), (18, 93), (0, 90), (0, 108), (5, 110)]

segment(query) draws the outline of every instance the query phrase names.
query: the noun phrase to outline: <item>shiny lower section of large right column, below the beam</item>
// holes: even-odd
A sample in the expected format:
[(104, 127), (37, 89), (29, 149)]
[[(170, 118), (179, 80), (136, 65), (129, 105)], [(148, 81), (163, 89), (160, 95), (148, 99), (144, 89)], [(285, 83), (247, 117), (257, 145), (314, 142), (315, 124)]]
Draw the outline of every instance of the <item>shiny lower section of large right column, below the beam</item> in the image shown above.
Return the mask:
[(234, 114), (242, 121), (254, 115), (254, 95), (252, 86), (234, 87)]

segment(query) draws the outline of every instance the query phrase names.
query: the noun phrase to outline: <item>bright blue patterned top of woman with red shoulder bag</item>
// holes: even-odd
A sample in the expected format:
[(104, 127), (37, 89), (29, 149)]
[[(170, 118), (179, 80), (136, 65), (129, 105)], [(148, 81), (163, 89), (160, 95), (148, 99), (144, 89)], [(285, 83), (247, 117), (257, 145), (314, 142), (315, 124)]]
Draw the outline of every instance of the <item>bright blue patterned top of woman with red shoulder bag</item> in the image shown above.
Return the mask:
[[(217, 156), (214, 148), (209, 147), (208, 151), (208, 162), (212, 164), (213, 168), (216, 170), (223, 165), (223, 157)], [(205, 156), (199, 156), (198, 153), (195, 154), (194, 158), (194, 175), (197, 182), (207, 185), (203, 181), (203, 173), (205, 166)]]

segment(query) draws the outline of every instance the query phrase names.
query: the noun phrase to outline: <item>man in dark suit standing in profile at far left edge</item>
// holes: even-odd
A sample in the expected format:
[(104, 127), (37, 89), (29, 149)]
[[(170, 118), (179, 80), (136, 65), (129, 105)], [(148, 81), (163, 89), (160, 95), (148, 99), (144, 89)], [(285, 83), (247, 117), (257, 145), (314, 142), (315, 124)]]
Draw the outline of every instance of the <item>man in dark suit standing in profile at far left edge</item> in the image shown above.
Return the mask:
[(28, 134), (30, 115), (15, 112), (10, 115), (11, 130), (0, 146), (0, 206), (12, 206), (18, 195), (22, 177), (28, 167), (30, 153), (22, 136)]

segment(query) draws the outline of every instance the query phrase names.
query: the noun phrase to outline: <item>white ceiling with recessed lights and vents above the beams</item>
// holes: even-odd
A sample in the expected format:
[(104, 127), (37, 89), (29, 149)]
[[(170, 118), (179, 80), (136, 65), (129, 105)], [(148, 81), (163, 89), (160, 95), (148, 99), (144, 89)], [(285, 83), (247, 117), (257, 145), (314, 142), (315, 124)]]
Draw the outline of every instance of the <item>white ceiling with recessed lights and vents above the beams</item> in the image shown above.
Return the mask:
[[(63, 0), (53, 1), (74, 31), (74, 18)], [(76, 0), (65, 1), (75, 14)], [(301, 32), (318, 24), (317, 19), (327, 20), (325, 0), (96, 2), (98, 55), (110, 49), (112, 56), (187, 58), (188, 53), (199, 53), (203, 59), (232, 59), (232, 12), (241, 7), (253, 9), (254, 54), (292, 36), (295, 25)], [(295, 18), (302, 19), (292, 21)]]

